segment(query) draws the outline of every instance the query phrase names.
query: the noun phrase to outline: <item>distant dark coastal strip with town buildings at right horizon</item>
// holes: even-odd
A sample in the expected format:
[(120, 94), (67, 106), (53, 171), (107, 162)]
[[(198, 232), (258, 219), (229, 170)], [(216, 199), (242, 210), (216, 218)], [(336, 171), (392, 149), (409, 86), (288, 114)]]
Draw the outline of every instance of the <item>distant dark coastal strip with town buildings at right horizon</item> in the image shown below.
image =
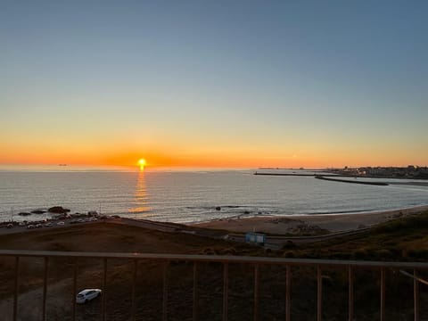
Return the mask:
[(372, 178), (408, 178), (428, 179), (428, 168), (408, 165), (407, 167), (360, 167), (343, 169), (329, 169), (342, 176), (372, 177)]

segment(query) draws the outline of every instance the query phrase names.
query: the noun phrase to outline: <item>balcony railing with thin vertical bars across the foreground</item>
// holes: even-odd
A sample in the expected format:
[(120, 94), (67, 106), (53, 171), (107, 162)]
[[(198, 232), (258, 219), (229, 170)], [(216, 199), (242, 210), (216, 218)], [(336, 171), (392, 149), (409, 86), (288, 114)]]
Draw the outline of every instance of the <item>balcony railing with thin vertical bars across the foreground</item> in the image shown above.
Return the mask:
[[(229, 268), (233, 265), (239, 264), (246, 268), (252, 269), (253, 280), (251, 286), (253, 287), (253, 298), (251, 298), (252, 304), (252, 318), (254, 320), (263, 320), (265, 311), (259, 306), (259, 292), (260, 292), (260, 275), (261, 268), (266, 266), (284, 268), (284, 319), (290, 321), (292, 319), (292, 274), (299, 268), (311, 268), (314, 273), (314, 280), (316, 280), (316, 308), (315, 314), (317, 321), (323, 319), (323, 308), (325, 308), (325, 302), (323, 295), (329, 291), (328, 288), (323, 289), (323, 280), (325, 276), (323, 273), (328, 268), (337, 268), (342, 271), (342, 274), (346, 275), (347, 284), (347, 318), (348, 320), (355, 319), (356, 310), (354, 305), (354, 288), (355, 288), (355, 276), (361, 269), (370, 269), (377, 274), (379, 283), (379, 292), (373, 292), (371, 295), (373, 298), (377, 297), (379, 300), (378, 306), (378, 318), (381, 321), (386, 320), (386, 306), (385, 301), (387, 294), (385, 292), (385, 284), (387, 284), (387, 273), (394, 271), (395, 275), (400, 275), (413, 283), (413, 292), (401, 293), (403, 296), (413, 296), (413, 317), (415, 320), (420, 320), (420, 284), (426, 284), (423, 278), (419, 277), (419, 273), (428, 269), (428, 263), (417, 263), (417, 262), (376, 262), (376, 261), (354, 261), (354, 260), (326, 260), (326, 259), (280, 259), (280, 258), (260, 258), (260, 257), (242, 257), (242, 256), (217, 256), (217, 255), (179, 255), (179, 254), (145, 254), (145, 253), (106, 253), (106, 252), (65, 252), (65, 251), (0, 251), (0, 259), (13, 260), (12, 264), (12, 276), (13, 276), (13, 289), (9, 293), (9, 297), (12, 299), (12, 320), (21, 319), (19, 309), (19, 297), (20, 297), (20, 265), (23, 259), (27, 258), (38, 258), (42, 264), (43, 270), (43, 295), (41, 300), (41, 319), (46, 320), (46, 306), (48, 304), (47, 292), (48, 292), (48, 276), (49, 276), (49, 263), (54, 259), (69, 259), (71, 260), (73, 267), (72, 270), (72, 295), (70, 295), (70, 310), (71, 313), (68, 316), (71, 320), (77, 319), (77, 304), (76, 304), (76, 293), (78, 292), (78, 262), (85, 259), (95, 259), (100, 263), (100, 272), (102, 276), (102, 289), (103, 295), (101, 298), (101, 313), (99, 319), (106, 320), (109, 316), (107, 314), (107, 298), (111, 299), (115, 292), (109, 291), (108, 289), (108, 266), (110, 262), (117, 261), (118, 259), (127, 260), (130, 267), (130, 275), (132, 281), (130, 282), (130, 310), (128, 311), (129, 317), (124, 319), (137, 320), (136, 309), (138, 302), (136, 300), (136, 287), (137, 287), (137, 272), (141, 263), (154, 262), (158, 267), (161, 268), (161, 309), (159, 310), (159, 319), (169, 319), (169, 304), (170, 298), (169, 293), (169, 277), (168, 271), (171, 264), (177, 264), (177, 262), (185, 263), (187, 267), (190, 267), (190, 273), (193, 276), (189, 276), (191, 289), (191, 307), (193, 320), (202, 319), (199, 314), (200, 308), (200, 297), (199, 297), (199, 286), (203, 283), (203, 279), (198, 273), (199, 268), (203, 264), (217, 264), (222, 267), (221, 278), (221, 319), (228, 319), (229, 312), (229, 284), (233, 281)], [(397, 273), (399, 272), (399, 273)], [(391, 280), (390, 280), (391, 281)], [(218, 291), (218, 290), (217, 290)], [(315, 293), (314, 293), (315, 294)], [(65, 294), (64, 294), (65, 295)], [(36, 303), (35, 303), (36, 304)], [(426, 305), (426, 304), (425, 304)], [(424, 306), (424, 305), (423, 305)], [(39, 308), (40, 309), (40, 308)], [(412, 318), (413, 318), (412, 317)], [(37, 319), (40, 319), (37, 318)], [(406, 318), (407, 319), (407, 318)]]

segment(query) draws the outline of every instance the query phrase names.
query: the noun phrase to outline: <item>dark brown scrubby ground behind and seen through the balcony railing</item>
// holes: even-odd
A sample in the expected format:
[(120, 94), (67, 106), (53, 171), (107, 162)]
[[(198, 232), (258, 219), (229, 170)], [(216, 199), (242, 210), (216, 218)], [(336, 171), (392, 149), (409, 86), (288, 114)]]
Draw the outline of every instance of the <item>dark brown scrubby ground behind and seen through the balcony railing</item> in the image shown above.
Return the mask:
[[(205, 255), (267, 256), (312, 259), (364, 259), (426, 261), (428, 258), (428, 213), (400, 218), (377, 226), (365, 235), (296, 246), (287, 243), (279, 251), (264, 250), (241, 243), (214, 240), (195, 235), (162, 233), (136, 226), (97, 223), (52, 231), (37, 230), (0, 237), (1, 249), (43, 251), (111, 251), (181, 253)], [(21, 320), (41, 319), (44, 261), (21, 258), (19, 313)], [(0, 319), (12, 317), (14, 259), (0, 261)], [(107, 287), (103, 289), (107, 320), (128, 320), (131, 315), (133, 263), (109, 259)], [(51, 259), (48, 269), (48, 320), (70, 320), (74, 300), (73, 259)], [(136, 316), (139, 320), (160, 320), (163, 302), (163, 265), (141, 260), (136, 274)], [(193, 263), (169, 262), (167, 269), (169, 320), (190, 320), (193, 309)], [(413, 271), (408, 271), (413, 272)], [(398, 270), (386, 270), (386, 307), (388, 320), (413, 319), (413, 280)], [(425, 279), (428, 275), (420, 271)], [(197, 265), (198, 315), (201, 320), (221, 320), (223, 307), (223, 265)], [(427, 276), (427, 277), (425, 277)], [(322, 268), (323, 315), (325, 320), (344, 320), (348, 311), (348, 275), (344, 268)], [(259, 319), (279, 320), (285, 314), (285, 268), (259, 267)], [(103, 261), (78, 260), (78, 289), (103, 284)], [(354, 300), (357, 320), (379, 319), (379, 270), (361, 268), (355, 272)], [(254, 267), (229, 265), (228, 319), (253, 317)], [(428, 289), (421, 284), (421, 319), (428, 318)], [(317, 309), (317, 270), (292, 267), (292, 320), (314, 320)], [(98, 320), (101, 299), (77, 309), (78, 320)]]

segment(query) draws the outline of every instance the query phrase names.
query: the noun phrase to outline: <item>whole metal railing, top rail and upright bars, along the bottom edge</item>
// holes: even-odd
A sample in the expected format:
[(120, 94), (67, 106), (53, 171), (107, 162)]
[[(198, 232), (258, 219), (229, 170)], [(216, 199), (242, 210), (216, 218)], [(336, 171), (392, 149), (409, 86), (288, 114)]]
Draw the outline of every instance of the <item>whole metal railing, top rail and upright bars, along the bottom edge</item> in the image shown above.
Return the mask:
[[(385, 271), (394, 269), (399, 271), (402, 275), (410, 276), (413, 279), (413, 309), (414, 319), (420, 320), (420, 297), (419, 297), (419, 284), (425, 284), (426, 281), (418, 276), (418, 271), (428, 270), (428, 263), (418, 262), (377, 262), (377, 261), (356, 261), (356, 260), (327, 260), (327, 259), (280, 259), (280, 258), (261, 258), (261, 257), (240, 257), (240, 256), (218, 256), (218, 255), (181, 255), (181, 254), (146, 254), (146, 253), (108, 253), (108, 252), (66, 252), (66, 251), (9, 251), (0, 250), (0, 258), (14, 258), (14, 280), (13, 280), (13, 293), (12, 294), (12, 320), (17, 320), (19, 316), (18, 300), (19, 300), (19, 284), (20, 284), (20, 264), (22, 258), (39, 258), (43, 259), (43, 300), (42, 300), (42, 320), (46, 319), (46, 293), (47, 293), (47, 279), (48, 279), (48, 266), (52, 259), (67, 258), (74, 261), (74, 268), (72, 274), (72, 291), (73, 296), (70, 298), (70, 305), (72, 305), (71, 319), (76, 320), (76, 298), (77, 283), (78, 283), (78, 260), (79, 259), (99, 259), (103, 264), (102, 283), (103, 295), (101, 302), (101, 319), (106, 319), (106, 297), (107, 293), (107, 268), (109, 260), (114, 259), (128, 259), (132, 261), (132, 288), (131, 292), (131, 309), (130, 315), (132, 320), (136, 320), (136, 275), (138, 269), (138, 262), (144, 260), (151, 260), (158, 262), (162, 269), (162, 304), (161, 304), (161, 318), (162, 320), (168, 319), (168, 300), (169, 300), (169, 279), (167, 277), (170, 262), (186, 262), (193, 264), (193, 292), (192, 292), (192, 317), (193, 320), (199, 319), (199, 292), (198, 282), (198, 264), (205, 263), (219, 263), (223, 266), (222, 276), (222, 320), (226, 321), (228, 317), (228, 292), (229, 292), (229, 266), (231, 264), (243, 264), (252, 266), (254, 268), (254, 281), (253, 281), (253, 319), (259, 319), (259, 286), (260, 286), (260, 267), (261, 266), (279, 266), (283, 267), (285, 271), (285, 293), (284, 293), (284, 319), (291, 320), (291, 284), (292, 284), (292, 269), (297, 267), (312, 267), (316, 268), (317, 279), (317, 305), (316, 316), (317, 321), (323, 318), (323, 268), (335, 267), (343, 268), (347, 273), (348, 283), (348, 320), (354, 320), (354, 279), (355, 272), (359, 268), (370, 268), (378, 270), (380, 281), (380, 306), (379, 315), (380, 320), (385, 319)], [(411, 270), (413, 273), (404, 271), (405, 269)]]

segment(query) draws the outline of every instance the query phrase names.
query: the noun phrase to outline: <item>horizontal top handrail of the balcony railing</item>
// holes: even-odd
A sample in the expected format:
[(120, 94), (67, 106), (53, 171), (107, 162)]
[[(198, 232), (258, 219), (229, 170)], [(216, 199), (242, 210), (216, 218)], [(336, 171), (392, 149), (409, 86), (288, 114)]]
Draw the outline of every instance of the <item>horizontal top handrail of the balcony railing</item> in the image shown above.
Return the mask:
[(187, 254), (152, 254), (152, 253), (124, 253), (124, 252), (80, 252), (80, 251), (15, 251), (0, 250), (0, 256), (12, 257), (58, 257), (78, 259), (153, 259), (153, 260), (189, 260), (220, 263), (251, 263), (274, 265), (322, 265), (322, 266), (354, 266), (365, 268), (428, 268), (425, 262), (381, 262), (357, 261), (339, 259), (283, 259), (247, 256), (222, 255), (187, 255)]

